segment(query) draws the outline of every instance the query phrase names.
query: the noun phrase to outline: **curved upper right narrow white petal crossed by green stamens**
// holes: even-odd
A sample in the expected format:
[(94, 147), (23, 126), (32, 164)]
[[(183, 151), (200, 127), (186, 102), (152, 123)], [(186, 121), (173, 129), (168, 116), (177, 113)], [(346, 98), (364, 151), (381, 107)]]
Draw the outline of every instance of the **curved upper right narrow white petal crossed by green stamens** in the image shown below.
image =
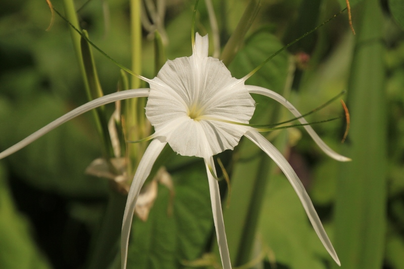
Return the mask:
[[(262, 94), (265, 96), (268, 96), (278, 102), (280, 102), (282, 105), (284, 105), (295, 117), (300, 117), (301, 114), (296, 110), (296, 108), (289, 102), (287, 101), (282, 95), (271, 91), (269, 89), (263, 88), (263, 87), (258, 87), (258, 86), (252, 86), (252, 85), (245, 85), (249, 93), (258, 93)], [(302, 124), (308, 123), (304, 118), (298, 119), (298, 121)], [(316, 134), (316, 132), (313, 130), (313, 128), (310, 125), (304, 126), (306, 131), (309, 133), (309, 135), (313, 138), (314, 142), (331, 158), (334, 158), (336, 160), (339, 160), (340, 162), (349, 162), (351, 159), (345, 156), (342, 156), (332, 150), (329, 146), (324, 143), (323, 140)]]

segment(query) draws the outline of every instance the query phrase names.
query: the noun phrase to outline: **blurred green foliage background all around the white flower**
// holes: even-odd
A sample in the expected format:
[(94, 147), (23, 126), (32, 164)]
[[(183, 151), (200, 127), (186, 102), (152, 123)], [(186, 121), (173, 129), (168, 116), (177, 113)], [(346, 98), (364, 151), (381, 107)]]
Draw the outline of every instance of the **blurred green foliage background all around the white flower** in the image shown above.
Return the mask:
[[(141, 75), (153, 78), (156, 28), (165, 59), (191, 55), (194, 1), (166, 0), (159, 23), (153, 21), (150, 5), (163, 2), (142, 3)], [(251, 3), (213, 1), (221, 49), (238, 31)], [(62, 1), (53, 5), (64, 13)], [(80, 0), (74, 5), (90, 39), (130, 67), (132, 3)], [(283, 94), (301, 113), (347, 91), (339, 98), (350, 112), (344, 143), (346, 120), (339, 100), (307, 119), (343, 116), (313, 128), (352, 162), (338, 163), (326, 156), (302, 128), (265, 135), (305, 185), (341, 268), (404, 268), (404, 1), (357, 0), (350, 5), (356, 35), (345, 11), (281, 52), (246, 84)], [(237, 40), (237, 53), (225, 63), (234, 77), (241, 78), (345, 6), (343, 0), (262, 0), (251, 27)], [(213, 55), (216, 32), (210, 19), (201, 1), (195, 28), (201, 35), (209, 34)], [(52, 28), (45, 31), (49, 22), (46, 1), (0, 3), (0, 151), (87, 101), (69, 26), (56, 15)], [(93, 57), (104, 93), (116, 92), (120, 68), (94, 49)], [(257, 109), (250, 123), (292, 118), (275, 101), (253, 97)], [(107, 115), (113, 111), (113, 104), (106, 106)], [(87, 113), (0, 160), (0, 268), (120, 267), (125, 194), (111, 180), (84, 173), (103, 155), (102, 147), (92, 114)], [(203, 160), (170, 156), (162, 164), (172, 187), (158, 183), (147, 220), (135, 217), (128, 268), (220, 268)], [(231, 181), (231, 192), (225, 180), (220, 187), (234, 267), (338, 267), (267, 155), (242, 139), (234, 151), (218, 157)], [(97, 245), (99, 249), (97, 238), (111, 197), (119, 204), (112, 219), (118, 232), (102, 247), (108, 254), (99, 257), (102, 264), (94, 265), (91, 255)]]

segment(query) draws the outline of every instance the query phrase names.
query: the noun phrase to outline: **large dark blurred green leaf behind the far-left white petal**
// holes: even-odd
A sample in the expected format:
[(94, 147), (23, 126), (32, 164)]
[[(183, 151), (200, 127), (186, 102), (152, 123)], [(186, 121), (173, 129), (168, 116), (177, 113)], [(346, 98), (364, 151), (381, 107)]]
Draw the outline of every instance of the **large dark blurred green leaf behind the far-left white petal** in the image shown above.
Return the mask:
[[(70, 110), (60, 99), (37, 94), (9, 102), (1, 99), (0, 146), (7, 148)], [(10, 117), (12, 115), (13, 117)], [(107, 182), (84, 175), (100, 149), (85, 117), (79, 117), (7, 157), (13, 172), (42, 190), (73, 196), (106, 195)]]

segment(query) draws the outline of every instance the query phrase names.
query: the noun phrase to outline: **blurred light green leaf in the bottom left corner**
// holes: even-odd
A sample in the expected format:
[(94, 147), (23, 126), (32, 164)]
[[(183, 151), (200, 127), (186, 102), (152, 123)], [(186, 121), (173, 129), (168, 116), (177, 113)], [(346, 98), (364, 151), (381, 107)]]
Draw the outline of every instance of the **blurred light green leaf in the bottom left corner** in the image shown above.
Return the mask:
[(30, 224), (15, 208), (0, 165), (0, 267), (8, 269), (51, 268), (30, 233)]

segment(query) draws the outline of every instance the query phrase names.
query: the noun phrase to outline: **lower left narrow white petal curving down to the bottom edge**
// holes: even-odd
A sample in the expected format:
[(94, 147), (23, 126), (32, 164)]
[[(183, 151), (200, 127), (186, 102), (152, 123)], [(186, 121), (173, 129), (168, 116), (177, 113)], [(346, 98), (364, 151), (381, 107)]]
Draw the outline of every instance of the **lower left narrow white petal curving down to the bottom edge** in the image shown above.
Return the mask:
[(156, 162), (157, 157), (163, 150), (167, 142), (162, 142), (159, 138), (155, 138), (150, 142), (146, 151), (140, 160), (139, 166), (137, 167), (135, 176), (132, 181), (132, 185), (129, 189), (128, 199), (126, 200), (125, 212), (123, 215), (122, 222), (122, 234), (121, 234), (121, 267), (126, 268), (126, 259), (128, 256), (128, 243), (130, 227), (132, 226), (132, 218), (135, 210), (137, 196), (139, 195), (140, 189), (143, 186), (144, 181), (150, 174), (151, 168)]

